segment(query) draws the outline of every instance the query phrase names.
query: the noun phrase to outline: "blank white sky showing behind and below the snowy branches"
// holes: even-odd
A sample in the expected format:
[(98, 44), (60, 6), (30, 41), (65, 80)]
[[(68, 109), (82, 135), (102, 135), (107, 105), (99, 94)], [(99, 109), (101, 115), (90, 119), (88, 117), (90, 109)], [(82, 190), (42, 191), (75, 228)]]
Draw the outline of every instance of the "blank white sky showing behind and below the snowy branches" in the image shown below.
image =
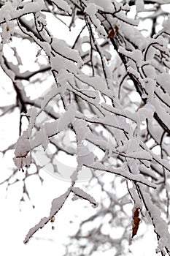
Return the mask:
[[(53, 24), (53, 22), (53, 20), (49, 20), (50, 31), (52, 31), (52, 33), (58, 38), (66, 38), (66, 42), (69, 41), (71, 45), (74, 42), (74, 39), (77, 37), (80, 29), (82, 28), (83, 23), (82, 21), (81, 23), (77, 24), (76, 28), (72, 29), (72, 32), (69, 33), (69, 29), (66, 30), (66, 26), (61, 23), (58, 23), (59, 26), (55, 25), (51, 27), (51, 24)], [(79, 29), (77, 29), (78, 26)], [(28, 56), (26, 56), (26, 48), (20, 49), (20, 52), (23, 51), (23, 56), (26, 56), (26, 61), (28, 61), (28, 58), (31, 58), (31, 50), (28, 50)], [(28, 69), (30, 69), (31, 65), (32, 64), (30, 64)], [(0, 102), (1, 105), (3, 105), (3, 101), (5, 100), (6, 104), (7, 102), (11, 104), (11, 95), (7, 92), (4, 92), (4, 90), (1, 89), (1, 86), (4, 86), (4, 89), (7, 92), (10, 91), (9, 80), (5, 78), (4, 75), (1, 75), (0, 80)], [(36, 90), (38, 90), (36, 86), (34, 90), (36, 93)], [(4, 97), (4, 95), (6, 96)], [(15, 123), (19, 123), (18, 112), (16, 111), (16, 113), (14, 113), (12, 117), (10, 116), (10, 118), (0, 118), (0, 122), (0, 140), (1, 148), (3, 148), (4, 142), (15, 143), (15, 140), (18, 137), (18, 126), (12, 125)], [(10, 171), (9, 167), (10, 165), (12, 165), (12, 157), (13, 154), (11, 152), (11, 154), (8, 153), (4, 157), (4, 159), (1, 158), (0, 166), (1, 172), (3, 172), (2, 174), (4, 175), (4, 177), (5, 171), (7, 171), (7, 173), (9, 173)], [(22, 173), (20, 173), (20, 175), (22, 176)], [(74, 225), (70, 224), (69, 220), (75, 219), (75, 214), (79, 216), (79, 218), (77, 219), (85, 219), (90, 211), (95, 211), (95, 209), (93, 209), (88, 202), (81, 202), (80, 200), (72, 202), (72, 200), (69, 200), (55, 217), (55, 230), (52, 230), (52, 225), (51, 223), (49, 223), (42, 230), (39, 230), (39, 232), (34, 235), (34, 238), (32, 238), (27, 245), (24, 245), (23, 239), (25, 238), (28, 230), (36, 225), (36, 223), (39, 222), (40, 218), (48, 216), (50, 212), (50, 203), (53, 198), (58, 197), (63, 192), (66, 192), (67, 187), (69, 187), (68, 182), (60, 181), (56, 178), (53, 178), (45, 172), (42, 173), (42, 177), (44, 178), (43, 187), (41, 187), (41, 184), (39, 184), (38, 186), (37, 182), (35, 182), (34, 179), (30, 182), (31, 203), (36, 206), (34, 210), (31, 208), (31, 203), (29, 202), (20, 205), (20, 187), (16, 187), (15, 185), (11, 186), (9, 188), (9, 192), (7, 193), (7, 197), (5, 197), (5, 186), (3, 185), (2, 187), (0, 187), (0, 255), (30, 256), (38, 254), (41, 256), (61, 256), (64, 252), (62, 244), (67, 244), (68, 241), (68, 238), (66, 238), (66, 236), (68, 234), (72, 234), (72, 230), (75, 230), (78, 227), (76, 223)], [(98, 193), (93, 191), (93, 197), (95, 197), (96, 200), (99, 199)], [(85, 208), (85, 206), (88, 208)], [(21, 211), (19, 211), (20, 208)], [(156, 255), (156, 242), (153, 240), (153, 230), (150, 230), (150, 227), (146, 227), (145, 225), (141, 224), (139, 225), (139, 232), (137, 236), (139, 236), (143, 230), (146, 230), (144, 238), (142, 238), (142, 241), (134, 242), (134, 244), (129, 247), (131, 252), (129, 252), (128, 255)], [(101, 254), (97, 252), (96, 255), (111, 256), (112, 250), (108, 252), (101, 252)]]

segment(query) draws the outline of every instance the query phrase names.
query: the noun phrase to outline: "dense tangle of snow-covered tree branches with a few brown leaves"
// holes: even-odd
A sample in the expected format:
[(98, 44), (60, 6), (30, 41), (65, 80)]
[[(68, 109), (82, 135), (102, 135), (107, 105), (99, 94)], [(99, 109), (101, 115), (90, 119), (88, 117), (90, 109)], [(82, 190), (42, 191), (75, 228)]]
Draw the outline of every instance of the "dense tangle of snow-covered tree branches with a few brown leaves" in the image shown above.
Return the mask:
[[(113, 211), (118, 212), (117, 218), (126, 219), (123, 208), (130, 202), (134, 212), (125, 223), (131, 225), (133, 219), (132, 236), (137, 234), (143, 216), (149, 215), (158, 238), (157, 251), (170, 255), (169, 231), (161, 218), (162, 214), (169, 222), (170, 18), (162, 9), (162, 4), (169, 4), (169, 0), (126, 2), (0, 3), (0, 65), (12, 82), (12, 95), (15, 95), (12, 107), (3, 106), (0, 117), (15, 109), (20, 113), (20, 137), (16, 139), (14, 153), (16, 168), (24, 172), (33, 164), (39, 173), (44, 165), (36, 162), (35, 155), (42, 150), (42, 158), (47, 157), (56, 175), (60, 171), (55, 162), (62, 152), (66, 158), (77, 161), (77, 170), (68, 175), (72, 184), (77, 182), (80, 172), (86, 177), (88, 169), (91, 180), (96, 178), (110, 205), (104, 208), (103, 203), (98, 205), (83, 189), (72, 186), (53, 200), (49, 217), (31, 228), (25, 243), (54, 217), (73, 192), (74, 200), (82, 198), (94, 207), (101, 207), (94, 219), (98, 214), (107, 213), (114, 219)], [(136, 7), (134, 18), (129, 18), (131, 13), (128, 15), (131, 6)], [(141, 12), (146, 15), (143, 17)], [(49, 26), (46, 14), (66, 26), (64, 39), (53, 35), (50, 27), (53, 24)], [(152, 25), (150, 29), (141, 29), (147, 17)], [(159, 20), (164, 20), (161, 30)], [(81, 23), (82, 28), (77, 26)], [(72, 42), (70, 35), (74, 26), (77, 36)], [(60, 29), (56, 23), (56, 31)], [(22, 48), (23, 42), (28, 42), (30, 49), (34, 45), (37, 50), (32, 62), (35, 69), (30, 64), (31, 54), (27, 67), (23, 64), (20, 46), (18, 48), (18, 43)], [(27, 71), (21, 72), (22, 69)], [(36, 96), (36, 85), (47, 91)], [(32, 94), (28, 94), (31, 86)], [(28, 121), (27, 128), (23, 126), (23, 118)], [(53, 153), (50, 146), (54, 148)], [(67, 159), (66, 162), (69, 165)], [(104, 176), (113, 174), (107, 184), (109, 189), (104, 186), (102, 176), (97, 176), (98, 171)], [(28, 176), (27, 170), (25, 173)], [(121, 200), (115, 189), (117, 178), (126, 184)], [(118, 222), (109, 223), (118, 226)], [(122, 220), (120, 225), (124, 228), (123, 239), (128, 240), (129, 226)], [(104, 236), (101, 226), (93, 230), (93, 236), (86, 237), (89, 244), (93, 242), (97, 246), (104, 238), (111, 247), (117, 246), (117, 255), (124, 255), (119, 251), (120, 240), (113, 242), (109, 235)], [(95, 250), (93, 247), (88, 255)]]

